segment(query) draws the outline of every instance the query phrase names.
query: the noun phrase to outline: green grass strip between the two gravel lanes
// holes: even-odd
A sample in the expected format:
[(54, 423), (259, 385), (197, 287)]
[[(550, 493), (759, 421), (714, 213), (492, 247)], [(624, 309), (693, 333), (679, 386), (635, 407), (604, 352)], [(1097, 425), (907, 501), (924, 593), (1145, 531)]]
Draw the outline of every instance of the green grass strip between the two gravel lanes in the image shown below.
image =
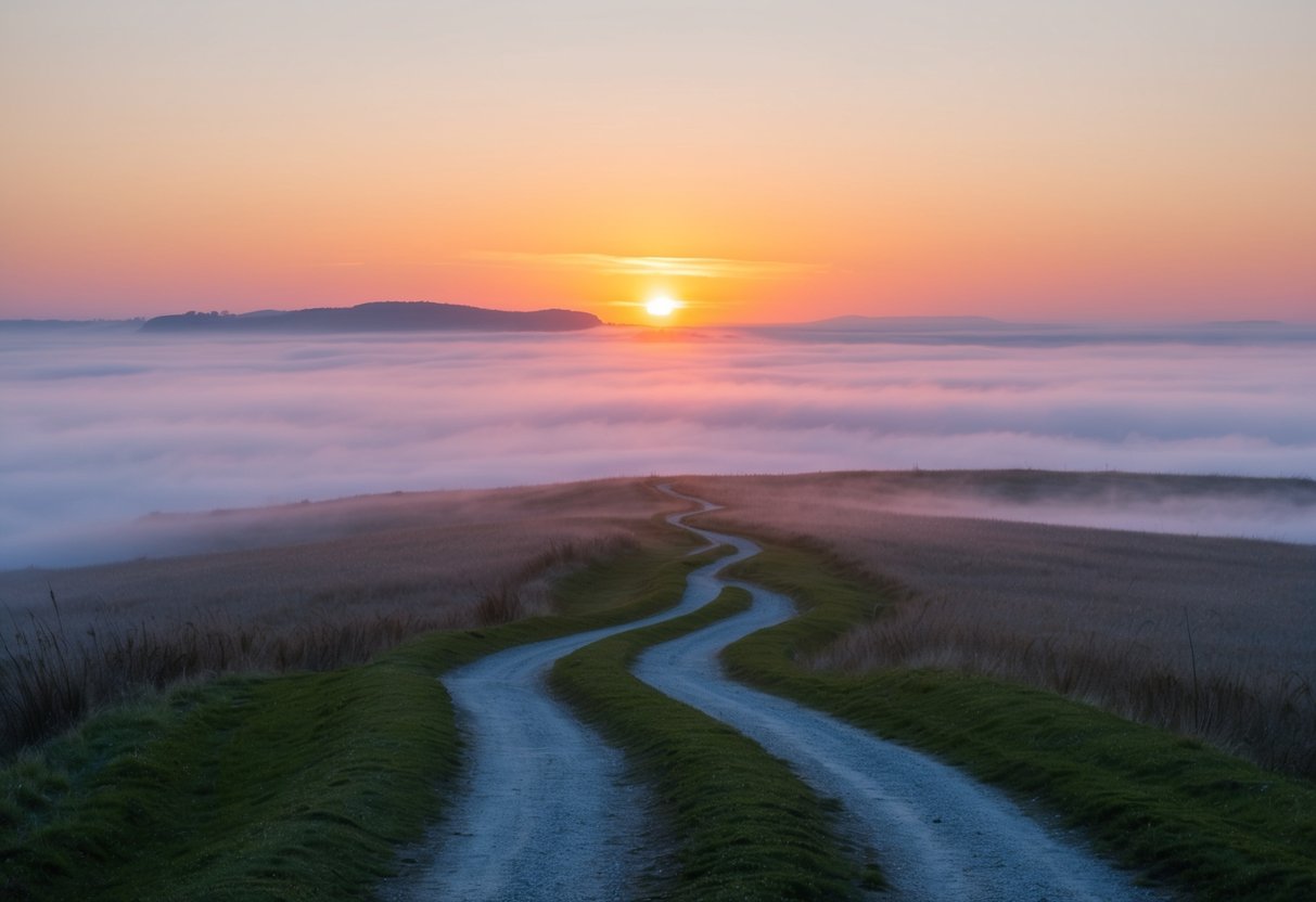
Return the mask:
[[(694, 614), (596, 642), (559, 660), (551, 685), (625, 749), (679, 836), (678, 872), (657, 898), (857, 898), (858, 869), (833, 835), (826, 806), (788, 765), (629, 672), (649, 646), (745, 610), (749, 601), (742, 589), (726, 589)], [(878, 878), (875, 869), (867, 878)]]

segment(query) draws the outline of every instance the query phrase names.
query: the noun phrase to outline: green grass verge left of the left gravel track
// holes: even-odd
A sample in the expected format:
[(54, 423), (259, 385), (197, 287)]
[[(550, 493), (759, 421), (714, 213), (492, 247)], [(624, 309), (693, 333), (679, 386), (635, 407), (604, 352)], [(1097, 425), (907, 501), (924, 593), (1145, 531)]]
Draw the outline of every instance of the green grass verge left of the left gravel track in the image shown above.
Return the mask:
[[(420, 636), (363, 667), (225, 678), (101, 714), (0, 769), (5, 899), (359, 899), (461, 767), (434, 678), (676, 602), (686, 538), (594, 564), (567, 613)], [(582, 598), (572, 606), (572, 598)]]

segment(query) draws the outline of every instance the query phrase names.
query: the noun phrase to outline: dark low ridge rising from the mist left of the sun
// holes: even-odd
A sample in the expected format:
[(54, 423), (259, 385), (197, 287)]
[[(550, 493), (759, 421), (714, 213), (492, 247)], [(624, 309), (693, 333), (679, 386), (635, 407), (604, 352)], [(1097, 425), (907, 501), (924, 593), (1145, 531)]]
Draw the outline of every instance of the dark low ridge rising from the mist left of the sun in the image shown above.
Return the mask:
[(601, 326), (579, 310), (490, 310), (430, 301), (375, 301), (305, 310), (180, 313), (147, 320), (153, 333), (358, 333), (358, 331), (576, 331)]

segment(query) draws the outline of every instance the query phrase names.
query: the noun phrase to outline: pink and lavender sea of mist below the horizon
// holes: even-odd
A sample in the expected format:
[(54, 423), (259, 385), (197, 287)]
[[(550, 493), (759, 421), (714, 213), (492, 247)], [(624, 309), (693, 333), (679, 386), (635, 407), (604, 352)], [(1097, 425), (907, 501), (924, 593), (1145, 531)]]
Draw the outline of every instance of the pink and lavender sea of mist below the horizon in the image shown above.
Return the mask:
[[(0, 330), (0, 567), (168, 551), (151, 511), (650, 473), (1316, 475), (1312, 330), (605, 327), (192, 339)], [(907, 500), (908, 501), (908, 500)], [(928, 500), (1316, 542), (1316, 505)]]

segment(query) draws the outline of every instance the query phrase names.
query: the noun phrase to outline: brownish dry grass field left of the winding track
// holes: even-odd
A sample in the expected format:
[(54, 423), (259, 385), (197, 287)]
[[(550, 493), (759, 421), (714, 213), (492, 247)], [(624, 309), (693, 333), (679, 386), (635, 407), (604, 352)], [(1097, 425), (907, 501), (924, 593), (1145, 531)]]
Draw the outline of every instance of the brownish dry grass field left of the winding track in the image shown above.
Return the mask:
[(242, 550), (0, 573), (0, 751), (142, 686), (544, 613), (558, 576), (678, 506), (640, 480), (370, 496), (170, 518), (191, 547)]

